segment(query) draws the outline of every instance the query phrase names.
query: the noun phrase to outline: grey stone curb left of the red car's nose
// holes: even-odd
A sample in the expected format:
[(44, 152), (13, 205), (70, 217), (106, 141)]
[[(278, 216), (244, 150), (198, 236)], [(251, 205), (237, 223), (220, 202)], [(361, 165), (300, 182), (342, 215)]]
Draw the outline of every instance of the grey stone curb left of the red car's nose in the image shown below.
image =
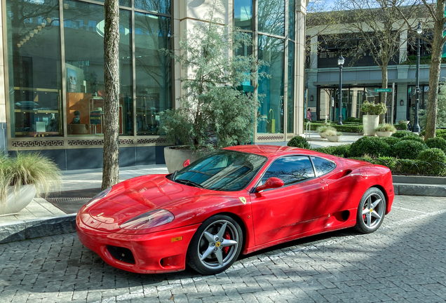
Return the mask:
[(76, 231), (76, 214), (0, 224), (0, 243), (55, 236)]

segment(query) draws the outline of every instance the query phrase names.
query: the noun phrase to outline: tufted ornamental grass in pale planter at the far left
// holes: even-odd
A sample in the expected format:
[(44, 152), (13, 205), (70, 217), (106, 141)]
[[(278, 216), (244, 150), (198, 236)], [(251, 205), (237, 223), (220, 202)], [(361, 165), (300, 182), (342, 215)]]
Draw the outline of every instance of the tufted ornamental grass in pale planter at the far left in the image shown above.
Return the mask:
[(25, 208), (36, 194), (46, 196), (60, 186), (60, 170), (39, 153), (0, 157), (0, 215), (13, 215)]

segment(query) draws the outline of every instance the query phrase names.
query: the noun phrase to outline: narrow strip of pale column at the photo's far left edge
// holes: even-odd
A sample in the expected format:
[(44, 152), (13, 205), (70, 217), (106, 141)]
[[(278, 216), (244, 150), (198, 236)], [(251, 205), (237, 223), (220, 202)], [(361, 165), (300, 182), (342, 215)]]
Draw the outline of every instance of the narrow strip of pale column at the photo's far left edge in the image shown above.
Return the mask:
[[(0, 7), (3, 7), (0, 0)], [(3, 56), (3, 20), (0, 14), (0, 154), (8, 152), (8, 133), (6, 130), (6, 101), (5, 101), (5, 62)]]

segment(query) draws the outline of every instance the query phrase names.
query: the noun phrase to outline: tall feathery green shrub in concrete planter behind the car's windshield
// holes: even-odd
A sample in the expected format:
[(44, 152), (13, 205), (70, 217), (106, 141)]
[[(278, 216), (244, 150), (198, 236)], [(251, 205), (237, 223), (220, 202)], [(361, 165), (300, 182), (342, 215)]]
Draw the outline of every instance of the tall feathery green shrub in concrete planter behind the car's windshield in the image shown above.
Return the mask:
[[(160, 133), (180, 145), (166, 147), (164, 158), (170, 173), (205, 152), (251, 142), (259, 99), (250, 91), (250, 81), (266, 76), (258, 72), (266, 65), (252, 55), (231, 55), (250, 46), (252, 38), (235, 27), (223, 26), (216, 11), (224, 7), (214, 1), (206, 13), (207, 22), (196, 22), (180, 39), (180, 55), (163, 52), (181, 65), (180, 107), (161, 113)], [(248, 87), (248, 89), (246, 89)], [(252, 87), (251, 87), (252, 88)]]

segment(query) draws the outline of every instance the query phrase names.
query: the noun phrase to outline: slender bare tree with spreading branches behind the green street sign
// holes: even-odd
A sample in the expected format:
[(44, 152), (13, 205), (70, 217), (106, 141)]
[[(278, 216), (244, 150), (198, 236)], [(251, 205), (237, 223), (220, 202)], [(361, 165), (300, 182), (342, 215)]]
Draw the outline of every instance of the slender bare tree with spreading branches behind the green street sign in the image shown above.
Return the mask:
[[(367, 51), (381, 69), (381, 88), (388, 86), (388, 64), (396, 60), (400, 52), (401, 34), (407, 27), (417, 24), (416, 19), (404, 22), (400, 11), (407, 15), (417, 14), (417, 5), (407, 5), (407, 0), (339, 0), (337, 6), (344, 11), (345, 30), (360, 39), (349, 55), (354, 60), (363, 57)], [(381, 102), (386, 104), (387, 94), (382, 94)]]

